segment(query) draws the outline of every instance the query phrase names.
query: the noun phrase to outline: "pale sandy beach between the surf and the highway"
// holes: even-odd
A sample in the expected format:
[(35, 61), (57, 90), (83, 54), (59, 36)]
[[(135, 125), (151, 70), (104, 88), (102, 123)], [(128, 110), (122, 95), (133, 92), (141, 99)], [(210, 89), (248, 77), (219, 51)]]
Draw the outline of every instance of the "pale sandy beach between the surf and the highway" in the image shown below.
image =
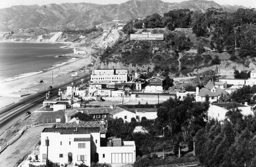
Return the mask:
[[(70, 43), (67, 48), (73, 48), (76, 43)], [(87, 48), (89, 53), (93, 52), (92, 48)], [(93, 61), (93, 58), (90, 54), (86, 55), (85, 58), (73, 58), (73, 62), (67, 63), (63, 66), (53, 68), (52, 70), (45, 71), (36, 75), (3, 82), (0, 84), (0, 108), (18, 101), (23, 97), (10, 97), (10, 94), (13, 92), (19, 92), (20, 90), (30, 88), (29, 92), (35, 93), (42, 90), (46, 90), (49, 86), (54, 87), (55, 85), (62, 84), (63, 82), (72, 79), (71, 75), (77, 72), (78, 75), (84, 75), (84, 68), (88, 68)], [(52, 77), (53, 76), (53, 77)], [(40, 80), (43, 80), (44, 83), (39, 84)], [(53, 80), (53, 83), (52, 83)], [(39, 85), (37, 85), (39, 84)], [(37, 86), (36, 86), (37, 85)]]

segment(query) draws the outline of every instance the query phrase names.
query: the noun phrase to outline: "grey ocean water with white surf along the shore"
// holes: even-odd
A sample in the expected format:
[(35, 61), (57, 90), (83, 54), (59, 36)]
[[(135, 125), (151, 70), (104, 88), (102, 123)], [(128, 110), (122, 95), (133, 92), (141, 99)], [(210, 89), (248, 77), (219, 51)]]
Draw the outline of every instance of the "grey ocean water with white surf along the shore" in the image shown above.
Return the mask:
[(57, 57), (73, 53), (63, 44), (0, 43), (0, 82), (15, 80), (51, 70), (74, 61), (74, 58)]

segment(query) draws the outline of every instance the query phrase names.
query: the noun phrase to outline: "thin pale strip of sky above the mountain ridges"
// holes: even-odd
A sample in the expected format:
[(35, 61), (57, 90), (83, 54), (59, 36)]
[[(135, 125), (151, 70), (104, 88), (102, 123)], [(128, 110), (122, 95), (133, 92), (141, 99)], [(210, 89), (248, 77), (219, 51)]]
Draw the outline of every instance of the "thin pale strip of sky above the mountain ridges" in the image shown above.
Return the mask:
[[(61, 4), (61, 3), (92, 3), (92, 4), (121, 4), (128, 0), (1, 0), (0, 8), (9, 8), (15, 5), (47, 5), (47, 4)], [(186, 0), (162, 0), (169, 3), (180, 3)], [(208, 1), (208, 0), (207, 0)], [(248, 8), (256, 8), (255, 0), (213, 0), (220, 5), (243, 5)]]

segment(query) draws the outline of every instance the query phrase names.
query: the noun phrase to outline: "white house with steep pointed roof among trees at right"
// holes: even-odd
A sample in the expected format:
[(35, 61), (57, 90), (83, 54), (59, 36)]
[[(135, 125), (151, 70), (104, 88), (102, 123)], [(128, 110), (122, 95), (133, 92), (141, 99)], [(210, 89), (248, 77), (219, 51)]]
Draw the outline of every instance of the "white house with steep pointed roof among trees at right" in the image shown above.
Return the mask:
[(216, 102), (221, 95), (228, 94), (224, 89), (216, 88), (214, 82), (211, 80), (208, 81), (205, 88), (199, 90), (196, 88), (196, 101), (205, 101), (206, 97), (209, 97), (209, 102)]

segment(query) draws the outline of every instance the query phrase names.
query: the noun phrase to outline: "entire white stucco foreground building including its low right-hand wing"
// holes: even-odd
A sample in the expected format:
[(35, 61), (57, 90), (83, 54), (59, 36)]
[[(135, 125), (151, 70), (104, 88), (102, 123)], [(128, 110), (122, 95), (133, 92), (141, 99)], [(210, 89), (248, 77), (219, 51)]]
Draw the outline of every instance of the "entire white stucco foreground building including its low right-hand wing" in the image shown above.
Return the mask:
[[(89, 125), (89, 126), (88, 126)], [(105, 129), (98, 122), (58, 123), (53, 128), (41, 132), (40, 159), (69, 164), (91, 165), (91, 160), (118, 166), (135, 162), (134, 141), (125, 142), (121, 138), (108, 138)]]

